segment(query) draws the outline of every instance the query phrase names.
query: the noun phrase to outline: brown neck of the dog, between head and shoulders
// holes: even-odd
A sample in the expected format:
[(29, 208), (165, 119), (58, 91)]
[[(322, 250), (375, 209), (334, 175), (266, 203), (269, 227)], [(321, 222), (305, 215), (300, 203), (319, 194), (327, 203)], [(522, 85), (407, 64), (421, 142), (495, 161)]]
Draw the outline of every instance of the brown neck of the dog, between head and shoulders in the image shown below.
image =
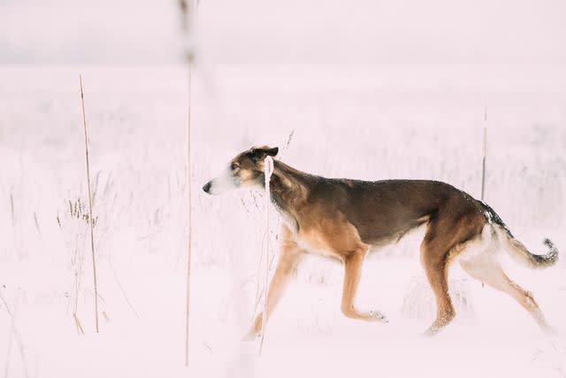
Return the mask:
[(309, 185), (314, 178), (279, 160), (273, 161), (270, 181), (272, 203), (284, 216), (296, 221), (297, 206), (307, 199)]

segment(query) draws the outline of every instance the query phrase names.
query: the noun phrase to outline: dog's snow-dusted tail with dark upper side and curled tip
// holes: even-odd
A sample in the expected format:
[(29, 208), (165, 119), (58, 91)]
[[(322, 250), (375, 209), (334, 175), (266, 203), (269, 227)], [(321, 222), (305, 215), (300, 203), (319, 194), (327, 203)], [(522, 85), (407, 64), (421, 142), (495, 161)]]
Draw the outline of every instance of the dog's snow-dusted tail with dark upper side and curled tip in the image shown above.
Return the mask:
[(497, 213), (494, 212), (489, 205), (483, 202), (481, 204), (484, 206), (487, 221), (494, 223), (501, 230), (498, 234), (502, 236), (501, 240), (505, 243), (505, 250), (509, 252), (509, 256), (511, 258), (519, 264), (532, 269), (543, 269), (548, 266), (555, 265), (556, 261), (558, 261), (558, 249), (555, 247), (555, 244), (550, 241), (550, 239), (544, 240), (548, 249), (547, 254), (535, 255), (534, 253), (531, 253), (526, 249), (523, 243), (516, 240), (507, 225), (503, 223), (500, 216), (497, 215)]

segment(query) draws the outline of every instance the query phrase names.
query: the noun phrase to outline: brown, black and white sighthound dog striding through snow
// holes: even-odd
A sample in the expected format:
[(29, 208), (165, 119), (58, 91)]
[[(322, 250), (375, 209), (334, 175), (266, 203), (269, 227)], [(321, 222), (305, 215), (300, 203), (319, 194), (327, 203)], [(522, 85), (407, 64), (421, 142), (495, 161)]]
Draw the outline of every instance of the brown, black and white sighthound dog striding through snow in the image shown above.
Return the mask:
[[(227, 189), (264, 188), (264, 158), (275, 157), (278, 151), (264, 146), (241, 152), (226, 172), (206, 183), (203, 190), (219, 194)], [(274, 160), (270, 191), (272, 204), (284, 222), (279, 263), (267, 294), (267, 319), (302, 255), (316, 253), (344, 264), (344, 315), (386, 321), (380, 312), (361, 312), (354, 305), (363, 258), (371, 246), (398, 241), (409, 230), (426, 224), (420, 258), (437, 305), (436, 320), (427, 334), (436, 333), (455, 317), (447, 271), (456, 256), (465, 272), (509, 294), (531, 313), (540, 328), (549, 329), (532, 294), (503, 272), (498, 252), (503, 247), (524, 265), (543, 268), (558, 259), (554, 244), (546, 239), (547, 254), (532, 254), (491, 207), (462, 190), (440, 181), (327, 179)], [(261, 328), (260, 313), (249, 336), (259, 335)]]

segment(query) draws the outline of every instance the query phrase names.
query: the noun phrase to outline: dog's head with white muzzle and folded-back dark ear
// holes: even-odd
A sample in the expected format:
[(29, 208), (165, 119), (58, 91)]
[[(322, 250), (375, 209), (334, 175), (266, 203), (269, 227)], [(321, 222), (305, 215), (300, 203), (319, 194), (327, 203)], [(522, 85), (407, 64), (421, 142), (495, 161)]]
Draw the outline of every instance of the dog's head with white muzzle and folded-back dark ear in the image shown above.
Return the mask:
[(229, 189), (254, 188), (264, 186), (264, 159), (276, 156), (277, 147), (252, 147), (233, 158), (218, 177), (208, 181), (203, 190), (211, 195), (223, 193)]

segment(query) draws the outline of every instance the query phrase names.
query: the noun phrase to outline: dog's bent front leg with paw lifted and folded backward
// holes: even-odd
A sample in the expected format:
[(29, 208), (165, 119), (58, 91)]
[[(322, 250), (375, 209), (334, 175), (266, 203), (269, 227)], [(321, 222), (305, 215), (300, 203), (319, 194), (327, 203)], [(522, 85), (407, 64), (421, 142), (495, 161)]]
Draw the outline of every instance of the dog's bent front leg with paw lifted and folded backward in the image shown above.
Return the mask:
[(341, 311), (348, 318), (352, 319), (387, 321), (386, 316), (381, 312), (360, 312), (354, 306), (362, 272), (363, 258), (367, 251), (367, 249), (356, 250), (344, 258), (344, 285), (342, 288)]

